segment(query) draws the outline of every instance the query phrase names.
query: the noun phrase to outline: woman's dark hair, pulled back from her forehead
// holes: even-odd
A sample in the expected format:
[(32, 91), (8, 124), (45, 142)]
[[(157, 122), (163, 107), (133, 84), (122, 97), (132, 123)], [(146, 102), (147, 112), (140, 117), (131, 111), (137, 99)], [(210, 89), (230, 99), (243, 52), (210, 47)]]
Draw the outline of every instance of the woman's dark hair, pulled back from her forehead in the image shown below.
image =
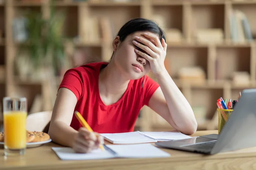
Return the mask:
[[(164, 31), (152, 20), (148, 20), (145, 18), (134, 18), (129, 20), (125, 25), (123, 25), (116, 36), (120, 37), (120, 41), (124, 41), (125, 38), (133, 34), (137, 31), (149, 31), (154, 34), (159, 35), (159, 40), (161, 41), (162, 38), (166, 41), (166, 37), (164, 35)], [(113, 52), (114, 54), (114, 52)], [(113, 57), (113, 54), (111, 56), (111, 59)]]

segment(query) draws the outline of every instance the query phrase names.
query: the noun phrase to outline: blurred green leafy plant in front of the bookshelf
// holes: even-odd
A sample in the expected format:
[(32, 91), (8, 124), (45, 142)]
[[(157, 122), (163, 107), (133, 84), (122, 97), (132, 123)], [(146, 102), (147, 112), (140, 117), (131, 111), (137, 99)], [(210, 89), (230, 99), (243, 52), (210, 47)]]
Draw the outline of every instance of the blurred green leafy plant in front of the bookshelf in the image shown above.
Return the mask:
[(49, 18), (43, 18), (41, 12), (35, 11), (28, 11), (26, 18), (27, 50), (33, 67), (37, 69), (42, 66), (52, 66), (56, 74), (65, 58), (65, 39), (62, 34), (64, 14), (57, 13), (51, 4)]

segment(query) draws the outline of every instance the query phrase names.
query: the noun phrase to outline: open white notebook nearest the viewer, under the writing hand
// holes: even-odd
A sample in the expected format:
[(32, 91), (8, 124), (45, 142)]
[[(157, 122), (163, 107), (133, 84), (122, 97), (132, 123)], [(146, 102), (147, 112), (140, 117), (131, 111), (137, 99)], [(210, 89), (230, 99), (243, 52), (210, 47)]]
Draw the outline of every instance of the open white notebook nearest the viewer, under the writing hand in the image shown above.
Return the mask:
[(90, 153), (75, 153), (70, 147), (52, 147), (61, 160), (87, 160), (110, 158), (161, 158), (170, 154), (152, 144), (104, 145), (105, 151), (93, 150)]

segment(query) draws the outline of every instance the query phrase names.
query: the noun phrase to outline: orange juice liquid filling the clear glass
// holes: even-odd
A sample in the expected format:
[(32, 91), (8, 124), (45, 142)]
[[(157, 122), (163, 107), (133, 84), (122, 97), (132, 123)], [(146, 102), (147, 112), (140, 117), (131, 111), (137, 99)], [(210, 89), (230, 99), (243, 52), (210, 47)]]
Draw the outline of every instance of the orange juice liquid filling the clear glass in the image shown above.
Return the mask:
[(3, 113), (4, 144), (8, 149), (26, 147), (26, 116), (24, 111), (9, 111)]

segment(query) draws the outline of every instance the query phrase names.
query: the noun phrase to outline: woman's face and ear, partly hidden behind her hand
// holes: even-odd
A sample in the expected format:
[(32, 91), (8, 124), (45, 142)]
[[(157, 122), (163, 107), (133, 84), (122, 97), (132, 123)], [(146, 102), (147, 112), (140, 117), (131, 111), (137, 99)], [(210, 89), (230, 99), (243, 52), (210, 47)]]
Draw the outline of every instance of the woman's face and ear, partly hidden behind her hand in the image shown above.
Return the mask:
[[(139, 79), (150, 71), (148, 60), (141, 57), (134, 51), (135, 48), (140, 51), (143, 50), (135, 46), (132, 42), (135, 40), (135, 36), (147, 39), (142, 35), (143, 33), (144, 32), (141, 31), (130, 34), (122, 42), (120, 42), (119, 36), (113, 40), (113, 60), (119, 70), (122, 71), (122, 73), (129, 79)], [(145, 51), (143, 52), (145, 53)]]

